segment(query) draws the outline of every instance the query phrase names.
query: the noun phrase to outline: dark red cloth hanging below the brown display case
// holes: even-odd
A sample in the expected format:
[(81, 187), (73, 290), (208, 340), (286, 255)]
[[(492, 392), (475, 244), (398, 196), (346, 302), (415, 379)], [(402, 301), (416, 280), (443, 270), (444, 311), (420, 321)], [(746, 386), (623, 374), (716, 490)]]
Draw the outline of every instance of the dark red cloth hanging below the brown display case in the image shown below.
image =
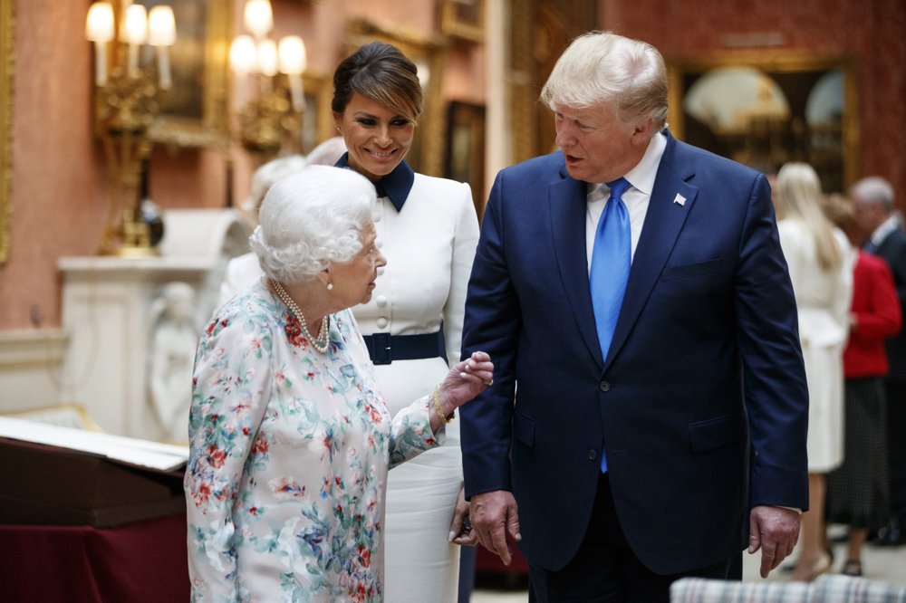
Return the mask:
[(116, 528), (0, 525), (0, 599), (12, 603), (188, 601), (186, 517)]

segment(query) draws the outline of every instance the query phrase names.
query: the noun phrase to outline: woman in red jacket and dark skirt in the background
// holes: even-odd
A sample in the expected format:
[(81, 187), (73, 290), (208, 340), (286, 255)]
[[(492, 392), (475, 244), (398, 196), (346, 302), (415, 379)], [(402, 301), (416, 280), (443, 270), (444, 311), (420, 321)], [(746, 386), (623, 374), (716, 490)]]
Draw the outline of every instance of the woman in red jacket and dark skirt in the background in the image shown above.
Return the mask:
[(828, 522), (849, 526), (841, 573), (862, 576), (862, 550), (870, 530), (886, 525), (888, 371), (884, 340), (900, 332), (902, 311), (891, 269), (859, 249), (863, 236), (853, 225), (853, 204), (843, 195), (827, 197), (824, 213), (850, 239), (856, 256), (849, 341), (843, 350), (845, 415), (843, 464), (827, 475)]

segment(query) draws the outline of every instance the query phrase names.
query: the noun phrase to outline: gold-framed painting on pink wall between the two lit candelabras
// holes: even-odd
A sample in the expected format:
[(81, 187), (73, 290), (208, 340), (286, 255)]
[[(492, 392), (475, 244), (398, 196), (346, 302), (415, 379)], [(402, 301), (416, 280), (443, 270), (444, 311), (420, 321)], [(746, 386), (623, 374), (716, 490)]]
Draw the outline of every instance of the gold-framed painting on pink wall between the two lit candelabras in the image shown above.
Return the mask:
[(162, 95), (149, 138), (177, 147), (224, 145), (229, 139), (227, 68), (231, 0), (137, 0), (170, 5), (177, 40), (170, 48), (173, 86)]

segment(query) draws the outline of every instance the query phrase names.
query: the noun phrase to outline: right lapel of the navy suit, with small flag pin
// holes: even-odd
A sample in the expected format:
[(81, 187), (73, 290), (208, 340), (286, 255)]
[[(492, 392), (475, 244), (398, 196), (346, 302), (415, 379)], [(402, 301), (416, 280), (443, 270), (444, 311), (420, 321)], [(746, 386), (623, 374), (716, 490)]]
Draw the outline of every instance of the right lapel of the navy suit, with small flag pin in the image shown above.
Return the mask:
[[(691, 168), (682, 171), (675, 158), (676, 141), (669, 138), (660, 159), (658, 175), (654, 180), (651, 200), (645, 223), (642, 225), (639, 244), (632, 258), (629, 282), (623, 296), (620, 318), (613, 332), (604, 369), (620, 351), (623, 343), (639, 318), (651, 289), (660, 278), (660, 272), (670, 257), (679, 231), (686, 222), (699, 189), (686, 181), (692, 177)], [(681, 197), (681, 198), (680, 198)]]

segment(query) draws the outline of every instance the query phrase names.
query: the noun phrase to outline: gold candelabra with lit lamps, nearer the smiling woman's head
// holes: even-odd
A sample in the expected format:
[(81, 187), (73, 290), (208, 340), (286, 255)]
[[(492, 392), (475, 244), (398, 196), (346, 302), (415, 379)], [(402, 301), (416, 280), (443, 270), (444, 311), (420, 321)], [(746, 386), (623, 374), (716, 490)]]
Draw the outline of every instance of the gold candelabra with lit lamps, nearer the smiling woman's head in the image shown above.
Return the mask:
[[(287, 35), (279, 43), (267, 36), (274, 27), (269, 0), (247, 0), (243, 21), (251, 35), (237, 35), (229, 52), (238, 83), (241, 138), (246, 148), (267, 158), (299, 144), (305, 44), (297, 35)], [(249, 100), (250, 80), (257, 86), (257, 97)]]

